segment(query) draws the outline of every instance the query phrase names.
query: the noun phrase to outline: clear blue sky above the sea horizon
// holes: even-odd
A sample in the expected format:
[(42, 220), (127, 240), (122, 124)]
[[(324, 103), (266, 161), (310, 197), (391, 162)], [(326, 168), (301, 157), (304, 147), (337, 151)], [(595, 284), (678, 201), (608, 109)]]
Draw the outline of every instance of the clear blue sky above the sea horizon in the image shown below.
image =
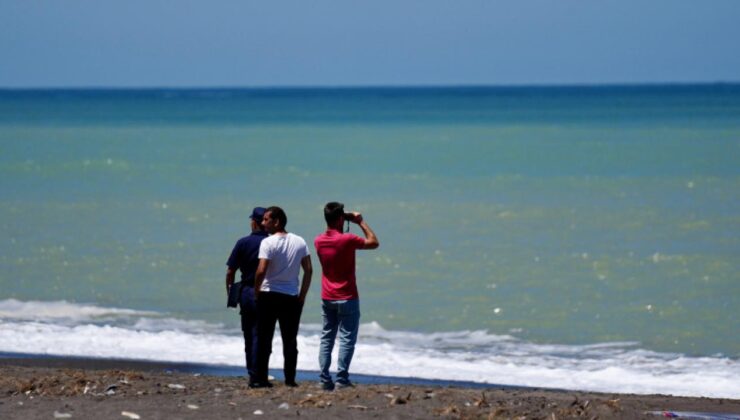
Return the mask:
[(740, 81), (737, 0), (0, 0), (0, 87)]

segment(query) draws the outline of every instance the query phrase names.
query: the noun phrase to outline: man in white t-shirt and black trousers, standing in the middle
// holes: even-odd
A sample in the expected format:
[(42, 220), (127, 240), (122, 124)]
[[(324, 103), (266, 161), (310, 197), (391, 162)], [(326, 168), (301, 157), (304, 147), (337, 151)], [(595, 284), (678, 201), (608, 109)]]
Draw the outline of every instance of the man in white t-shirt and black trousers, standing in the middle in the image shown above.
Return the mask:
[[(257, 300), (257, 372), (252, 388), (269, 388), (267, 380), (272, 337), (275, 322), (280, 323), (283, 340), (283, 373), (285, 385), (298, 386), (295, 382), (298, 363), (298, 324), (301, 321), (303, 302), (311, 286), (311, 256), (306, 241), (285, 231), (288, 217), (280, 207), (270, 207), (262, 218), (262, 226), (269, 237), (262, 240), (259, 265), (255, 274), (254, 296)], [(303, 268), (303, 281), (298, 274)]]

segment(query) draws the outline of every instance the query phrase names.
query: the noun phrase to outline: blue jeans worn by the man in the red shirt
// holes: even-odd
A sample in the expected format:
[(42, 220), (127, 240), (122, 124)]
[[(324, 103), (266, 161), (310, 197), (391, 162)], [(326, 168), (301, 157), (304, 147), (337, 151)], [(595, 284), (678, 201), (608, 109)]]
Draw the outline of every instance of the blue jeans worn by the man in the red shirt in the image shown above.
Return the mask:
[(329, 366), (334, 340), (339, 332), (337, 382), (348, 383), (349, 365), (355, 353), (357, 331), (360, 328), (360, 300), (323, 300), (321, 309), (324, 327), (321, 331), (319, 348), (319, 367), (321, 368), (319, 377), (322, 383), (333, 383), (329, 374)]

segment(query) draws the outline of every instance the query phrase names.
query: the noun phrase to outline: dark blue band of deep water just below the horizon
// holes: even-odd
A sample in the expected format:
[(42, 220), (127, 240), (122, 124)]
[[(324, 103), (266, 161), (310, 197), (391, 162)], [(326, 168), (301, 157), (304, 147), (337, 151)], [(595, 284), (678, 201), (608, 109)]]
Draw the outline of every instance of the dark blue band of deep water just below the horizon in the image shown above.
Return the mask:
[(740, 85), (0, 90), (16, 124), (737, 125)]

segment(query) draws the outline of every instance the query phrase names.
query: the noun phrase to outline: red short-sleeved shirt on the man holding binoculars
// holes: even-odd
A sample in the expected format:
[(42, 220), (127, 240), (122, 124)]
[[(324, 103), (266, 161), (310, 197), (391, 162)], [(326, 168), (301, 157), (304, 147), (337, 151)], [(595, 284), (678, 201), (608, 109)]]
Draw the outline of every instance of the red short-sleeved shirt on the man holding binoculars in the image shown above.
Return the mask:
[(357, 299), (355, 250), (365, 245), (365, 239), (329, 229), (318, 235), (313, 244), (321, 261), (321, 299)]

